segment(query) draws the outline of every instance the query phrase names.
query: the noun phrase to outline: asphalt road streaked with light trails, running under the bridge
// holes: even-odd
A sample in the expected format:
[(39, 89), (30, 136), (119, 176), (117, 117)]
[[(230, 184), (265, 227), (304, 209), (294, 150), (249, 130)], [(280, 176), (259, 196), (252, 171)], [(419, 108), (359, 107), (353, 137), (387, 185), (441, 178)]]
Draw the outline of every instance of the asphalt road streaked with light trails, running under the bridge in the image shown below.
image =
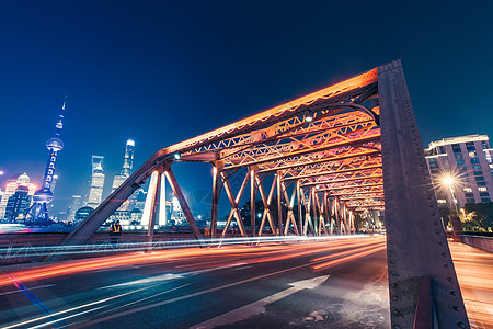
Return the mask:
[(388, 328), (383, 237), (0, 269), (2, 328)]

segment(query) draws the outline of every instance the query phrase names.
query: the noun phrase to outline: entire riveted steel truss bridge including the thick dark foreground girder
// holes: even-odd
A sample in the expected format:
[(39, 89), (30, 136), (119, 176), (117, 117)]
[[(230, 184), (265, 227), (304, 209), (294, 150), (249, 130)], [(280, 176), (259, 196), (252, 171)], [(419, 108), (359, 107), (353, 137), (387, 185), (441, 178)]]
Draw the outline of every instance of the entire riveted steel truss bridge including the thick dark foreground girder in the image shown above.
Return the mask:
[[(356, 212), (385, 211), (392, 327), (469, 327), (400, 60), (160, 149), (64, 245), (87, 242), (148, 179), (149, 241), (165, 181), (204, 241), (173, 174), (176, 161), (211, 164), (210, 238), (225, 236), (233, 222), (244, 237), (261, 236), (266, 227), (271, 235), (349, 234)], [(230, 178), (238, 173), (244, 174), (233, 191)], [(221, 193), (231, 209), (219, 235)], [(244, 193), (250, 230), (239, 209)], [(259, 229), (255, 200), (263, 203)]]

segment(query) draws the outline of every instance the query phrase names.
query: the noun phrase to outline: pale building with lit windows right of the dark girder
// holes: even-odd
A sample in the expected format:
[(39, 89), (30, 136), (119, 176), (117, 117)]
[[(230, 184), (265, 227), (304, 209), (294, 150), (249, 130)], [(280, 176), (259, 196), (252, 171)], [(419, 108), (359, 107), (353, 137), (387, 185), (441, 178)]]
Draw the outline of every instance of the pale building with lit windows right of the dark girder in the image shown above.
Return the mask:
[(486, 135), (432, 141), (425, 156), (439, 205), (491, 202), (493, 149)]

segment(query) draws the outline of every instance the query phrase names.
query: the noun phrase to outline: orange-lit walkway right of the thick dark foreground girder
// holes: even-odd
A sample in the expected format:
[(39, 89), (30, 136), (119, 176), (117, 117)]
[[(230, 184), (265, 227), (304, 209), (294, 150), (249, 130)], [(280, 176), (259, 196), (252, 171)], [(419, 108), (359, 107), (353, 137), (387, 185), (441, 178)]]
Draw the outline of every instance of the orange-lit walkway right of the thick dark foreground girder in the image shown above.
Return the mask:
[(471, 328), (493, 328), (493, 253), (448, 242)]

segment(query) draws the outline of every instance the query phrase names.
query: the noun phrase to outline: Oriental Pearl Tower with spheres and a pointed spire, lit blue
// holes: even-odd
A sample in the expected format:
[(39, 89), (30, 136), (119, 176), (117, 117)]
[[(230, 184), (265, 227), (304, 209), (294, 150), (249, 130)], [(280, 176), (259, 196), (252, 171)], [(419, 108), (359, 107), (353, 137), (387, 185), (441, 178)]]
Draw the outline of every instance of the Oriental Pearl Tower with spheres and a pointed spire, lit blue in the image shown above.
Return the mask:
[(61, 106), (61, 113), (56, 124), (57, 132), (55, 133), (55, 137), (49, 138), (46, 141), (46, 148), (49, 150), (48, 161), (46, 163), (45, 175), (43, 178), (43, 184), (36, 193), (33, 195), (34, 204), (31, 206), (27, 212), (31, 215), (33, 220), (46, 222), (49, 219), (48, 217), (48, 208), (46, 204), (50, 203), (53, 200), (51, 192), (51, 183), (53, 175), (55, 174), (55, 167), (57, 163), (58, 151), (64, 148), (64, 143), (61, 141), (60, 131), (64, 127), (61, 123), (65, 113), (65, 104), (67, 102), (67, 97), (65, 98), (64, 105)]

